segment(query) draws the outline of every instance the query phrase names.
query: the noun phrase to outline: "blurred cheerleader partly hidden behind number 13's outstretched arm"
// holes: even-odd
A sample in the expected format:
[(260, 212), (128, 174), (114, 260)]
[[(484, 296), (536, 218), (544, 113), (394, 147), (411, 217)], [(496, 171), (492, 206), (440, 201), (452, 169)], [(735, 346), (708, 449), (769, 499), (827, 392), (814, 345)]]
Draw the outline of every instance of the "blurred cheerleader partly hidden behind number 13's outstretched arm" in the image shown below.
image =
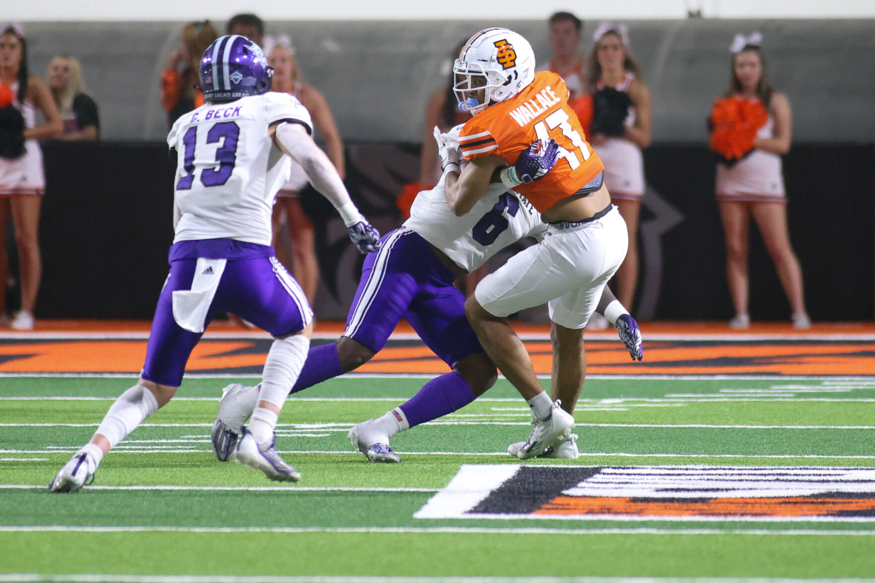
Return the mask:
[[(301, 71), (295, 59), (295, 49), (288, 36), (264, 38), (264, 52), (273, 67), (271, 91), (293, 95), (310, 112), (313, 128), (325, 139), (328, 158), (340, 177), (345, 176), (343, 142), (334, 124), (331, 109), (318, 89), (301, 81)], [(314, 133), (315, 133), (314, 131)], [(304, 213), (302, 191), (307, 187), (307, 175), (300, 164), (291, 163), (289, 181), (276, 193), (273, 212), (274, 247), (277, 258), (295, 274), (295, 279), (304, 289), (304, 295), (312, 304), (319, 281), (319, 264), (316, 259), (315, 232), (313, 223)], [(311, 188), (304, 192), (310, 192)], [(306, 196), (304, 194), (304, 196)], [(316, 194), (316, 198), (322, 197)], [(287, 225), (291, 257), (282, 243), (283, 224)]]

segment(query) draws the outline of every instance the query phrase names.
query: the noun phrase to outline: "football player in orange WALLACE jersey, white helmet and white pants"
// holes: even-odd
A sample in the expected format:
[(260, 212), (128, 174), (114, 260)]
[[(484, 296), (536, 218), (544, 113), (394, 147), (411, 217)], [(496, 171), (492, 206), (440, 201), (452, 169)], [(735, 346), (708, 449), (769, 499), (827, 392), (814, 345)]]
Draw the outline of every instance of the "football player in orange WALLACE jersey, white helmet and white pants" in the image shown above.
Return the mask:
[[(486, 276), (465, 302), (486, 353), (532, 408), (535, 428), (528, 441), (507, 449), (525, 459), (548, 448), (556, 451), (569, 441), (573, 445), (571, 413), (586, 366), (583, 330), (602, 288), (626, 257), (626, 224), (603, 184), (604, 166), (568, 107), (568, 88), (556, 73), (535, 73), (535, 55), (525, 38), (504, 28), (479, 31), (465, 44), (453, 70), (459, 80), (459, 108), (473, 117), (461, 128), (458, 142), (443, 135), (439, 148), (449, 170), (447, 204), (457, 216), (469, 212), (498, 173), (549, 223), (542, 242)], [(559, 146), (555, 167), (543, 177), (530, 176), (524, 164), (516, 163), (537, 140), (545, 147), (551, 140)], [(464, 169), (459, 169), (457, 143), (468, 162)], [(458, 171), (452, 171), (453, 164)], [(507, 316), (543, 303), (548, 303), (553, 323), (556, 402), (543, 391), (525, 346), (507, 323)], [(605, 315), (621, 334), (625, 329), (640, 336), (620, 302)]]

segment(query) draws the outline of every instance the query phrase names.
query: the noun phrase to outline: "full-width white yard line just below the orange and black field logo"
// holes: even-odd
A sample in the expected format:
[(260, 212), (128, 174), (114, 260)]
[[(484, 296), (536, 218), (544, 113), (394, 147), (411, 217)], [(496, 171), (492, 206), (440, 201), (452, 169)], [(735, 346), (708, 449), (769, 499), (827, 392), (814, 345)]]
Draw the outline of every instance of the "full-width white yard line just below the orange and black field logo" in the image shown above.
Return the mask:
[[(687, 518), (687, 517), (684, 517)], [(244, 532), (281, 532), (289, 534), (304, 534), (311, 532), (330, 533), (365, 533), (365, 534), (515, 534), (515, 535), (754, 535), (754, 536), (858, 536), (875, 537), (875, 529), (851, 530), (851, 529), (719, 529), (719, 528), (489, 528), (481, 526), (66, 526), (52, 524), (50, 526), (0, 526), (3, 532), (91, 532), (91, 533), (117, 533), (117, 532), (196, 532), (209, 534), (240, 534)]]

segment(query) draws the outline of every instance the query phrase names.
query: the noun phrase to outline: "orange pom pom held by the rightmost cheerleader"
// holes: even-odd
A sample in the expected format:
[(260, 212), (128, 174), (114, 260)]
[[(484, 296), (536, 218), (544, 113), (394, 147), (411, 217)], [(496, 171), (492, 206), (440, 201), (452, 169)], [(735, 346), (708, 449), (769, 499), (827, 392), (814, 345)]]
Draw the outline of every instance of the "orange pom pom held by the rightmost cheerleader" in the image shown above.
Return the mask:
[(720, 162), (732, 167), (753, 152), (757, 130), (768, 121), (768, 112), (761, 101), (738, 97), (714, 100), (711, 117), (709, 147)]

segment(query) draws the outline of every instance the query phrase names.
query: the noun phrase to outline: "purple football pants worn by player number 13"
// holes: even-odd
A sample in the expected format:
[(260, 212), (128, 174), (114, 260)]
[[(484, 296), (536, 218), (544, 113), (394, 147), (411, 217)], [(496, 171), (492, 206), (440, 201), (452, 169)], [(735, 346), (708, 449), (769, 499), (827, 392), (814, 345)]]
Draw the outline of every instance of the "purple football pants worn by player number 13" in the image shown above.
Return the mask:
[(199, 257), (228, 260), (204, 328), (215, 314), (230, 312), (273, 337), (286, 337), (304, 330), (313, 316), (304, 291), (276, 260), (273, 247), (233, 239), (180, 241), (171, 247), (170, 274), (158, 297), (142, 372), (158, 385), (182, 383), (188, 357), (202, 336), (180, 328), (172, 307), (174, 291), (191, 289)]

